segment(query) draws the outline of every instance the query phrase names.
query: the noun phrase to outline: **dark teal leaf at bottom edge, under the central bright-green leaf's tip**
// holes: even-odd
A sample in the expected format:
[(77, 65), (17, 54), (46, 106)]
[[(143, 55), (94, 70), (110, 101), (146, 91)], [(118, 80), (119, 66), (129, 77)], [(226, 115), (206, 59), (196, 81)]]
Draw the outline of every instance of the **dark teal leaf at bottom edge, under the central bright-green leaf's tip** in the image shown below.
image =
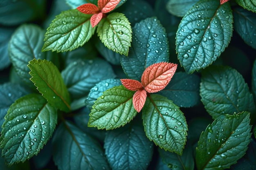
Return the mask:
[(160, 148), (158, 148), (158, 152), (160, 154), (160, 157), (162, 157), (164, 164), (166, 164), (168, 168), (175, 170), (194, 169), (193, 147), (189, 143), (184, 148), (181, 156)]

